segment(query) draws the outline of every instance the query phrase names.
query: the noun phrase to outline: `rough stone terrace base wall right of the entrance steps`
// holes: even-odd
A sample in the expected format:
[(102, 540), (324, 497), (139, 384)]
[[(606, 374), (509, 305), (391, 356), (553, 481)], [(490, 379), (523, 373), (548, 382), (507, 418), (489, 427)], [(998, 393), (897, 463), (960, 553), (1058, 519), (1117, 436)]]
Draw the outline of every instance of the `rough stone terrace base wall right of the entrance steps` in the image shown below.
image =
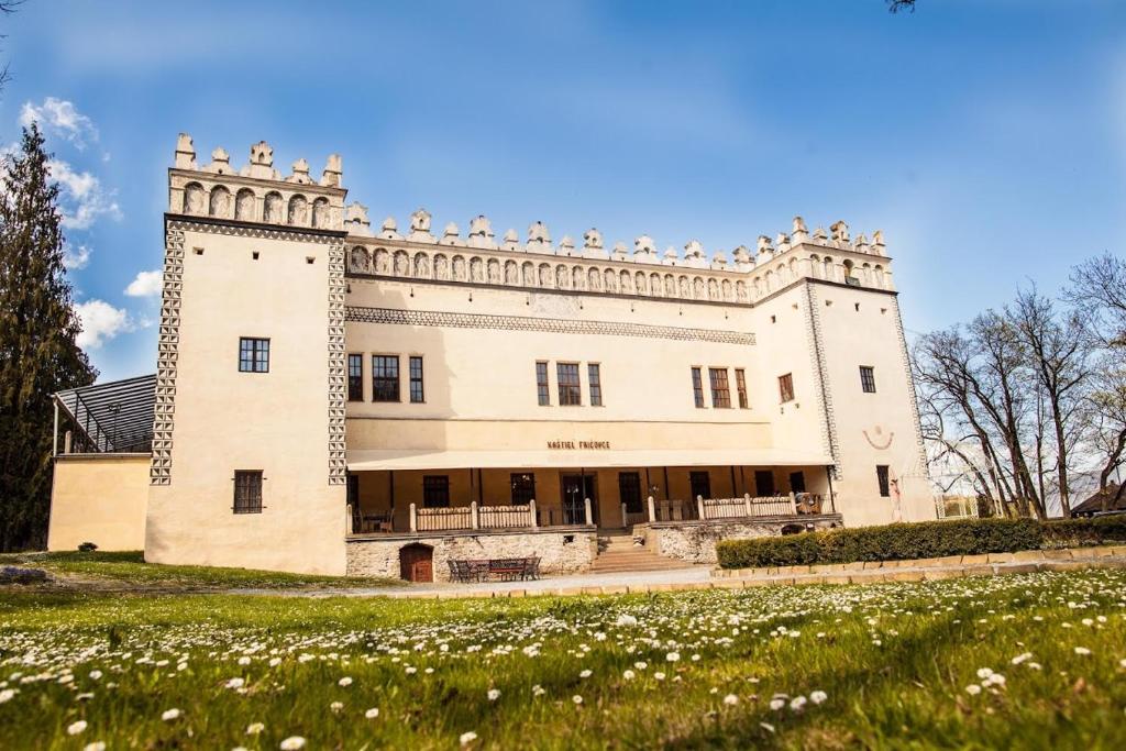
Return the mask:
[(645, 546), (659, 555), (692, 563), (715, 563), (715, 544), (721, 539), (771, 537), (781, 535), (787, 525), (798, 525), (803, 530), (840, 527), (839, 513), (761, 519), (731, 519), (713, 521), (674, 521), (635, 525), (634, 535), (645, 537)]

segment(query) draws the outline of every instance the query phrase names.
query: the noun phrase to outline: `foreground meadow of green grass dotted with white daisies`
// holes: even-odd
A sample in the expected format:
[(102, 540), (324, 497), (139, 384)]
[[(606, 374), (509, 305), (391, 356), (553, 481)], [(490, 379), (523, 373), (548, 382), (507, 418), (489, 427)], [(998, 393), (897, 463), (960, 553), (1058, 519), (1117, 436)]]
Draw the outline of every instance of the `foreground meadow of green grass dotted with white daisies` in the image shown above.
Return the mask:
[(0, 748), (1126, 748), (1126, 572), (494, 600), (0, 594)]

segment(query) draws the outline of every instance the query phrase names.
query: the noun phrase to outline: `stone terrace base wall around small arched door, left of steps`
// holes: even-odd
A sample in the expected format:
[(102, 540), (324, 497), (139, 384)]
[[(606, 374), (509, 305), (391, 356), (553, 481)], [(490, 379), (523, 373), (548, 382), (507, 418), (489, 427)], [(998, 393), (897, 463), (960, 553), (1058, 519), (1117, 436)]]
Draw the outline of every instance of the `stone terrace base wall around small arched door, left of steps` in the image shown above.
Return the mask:
[(538, 556), (540, 573), (565, 574), (590, 567), (598, 555), (598, 534), (569, 529), (351, 538), (346, 545), (348, 575), (399, 579), (399, 551), (408, 545), (434, 548), (435, 581), (449, 581), (448, 561), (472, 558)]

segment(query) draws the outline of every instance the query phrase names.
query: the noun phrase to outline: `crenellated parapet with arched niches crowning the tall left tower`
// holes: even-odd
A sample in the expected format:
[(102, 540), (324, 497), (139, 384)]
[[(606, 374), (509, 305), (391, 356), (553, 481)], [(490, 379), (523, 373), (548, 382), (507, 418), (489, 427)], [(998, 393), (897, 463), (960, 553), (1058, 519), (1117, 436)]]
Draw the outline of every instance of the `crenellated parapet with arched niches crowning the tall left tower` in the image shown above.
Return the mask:
[[(340, 158), (330, 157), (323, 185), (309, 177), (303, 159), (287, 178), (274, 169), (274, 150), (261, 141), (250, 147), (250, 161), (241, 169), (231, 163), (222, 146), (211, 161), (199, 167), (191, 136), (181, 133), (176, 142), (173, 167), (168, 177), (168, 211), (171, 214), (209, 216), (236, 222), (343, 230), (343, 199), (339, 186)], [(366, 215), (365, 215), (366, 221)], [(349, 221), (348, 231), (370, 234), (364, 222)]]

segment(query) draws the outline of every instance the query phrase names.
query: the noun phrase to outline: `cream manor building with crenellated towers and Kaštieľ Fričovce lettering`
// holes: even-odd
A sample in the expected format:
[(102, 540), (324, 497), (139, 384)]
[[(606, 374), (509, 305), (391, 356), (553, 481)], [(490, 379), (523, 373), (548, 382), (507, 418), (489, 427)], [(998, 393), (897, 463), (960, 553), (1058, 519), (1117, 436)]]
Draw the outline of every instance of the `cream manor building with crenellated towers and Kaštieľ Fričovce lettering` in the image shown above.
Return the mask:
[(707, 256), (346, 195), (179, 137), (157, 374), (57, 395), (51, 548), (443, 579), (935, 518), (881, 232)]

